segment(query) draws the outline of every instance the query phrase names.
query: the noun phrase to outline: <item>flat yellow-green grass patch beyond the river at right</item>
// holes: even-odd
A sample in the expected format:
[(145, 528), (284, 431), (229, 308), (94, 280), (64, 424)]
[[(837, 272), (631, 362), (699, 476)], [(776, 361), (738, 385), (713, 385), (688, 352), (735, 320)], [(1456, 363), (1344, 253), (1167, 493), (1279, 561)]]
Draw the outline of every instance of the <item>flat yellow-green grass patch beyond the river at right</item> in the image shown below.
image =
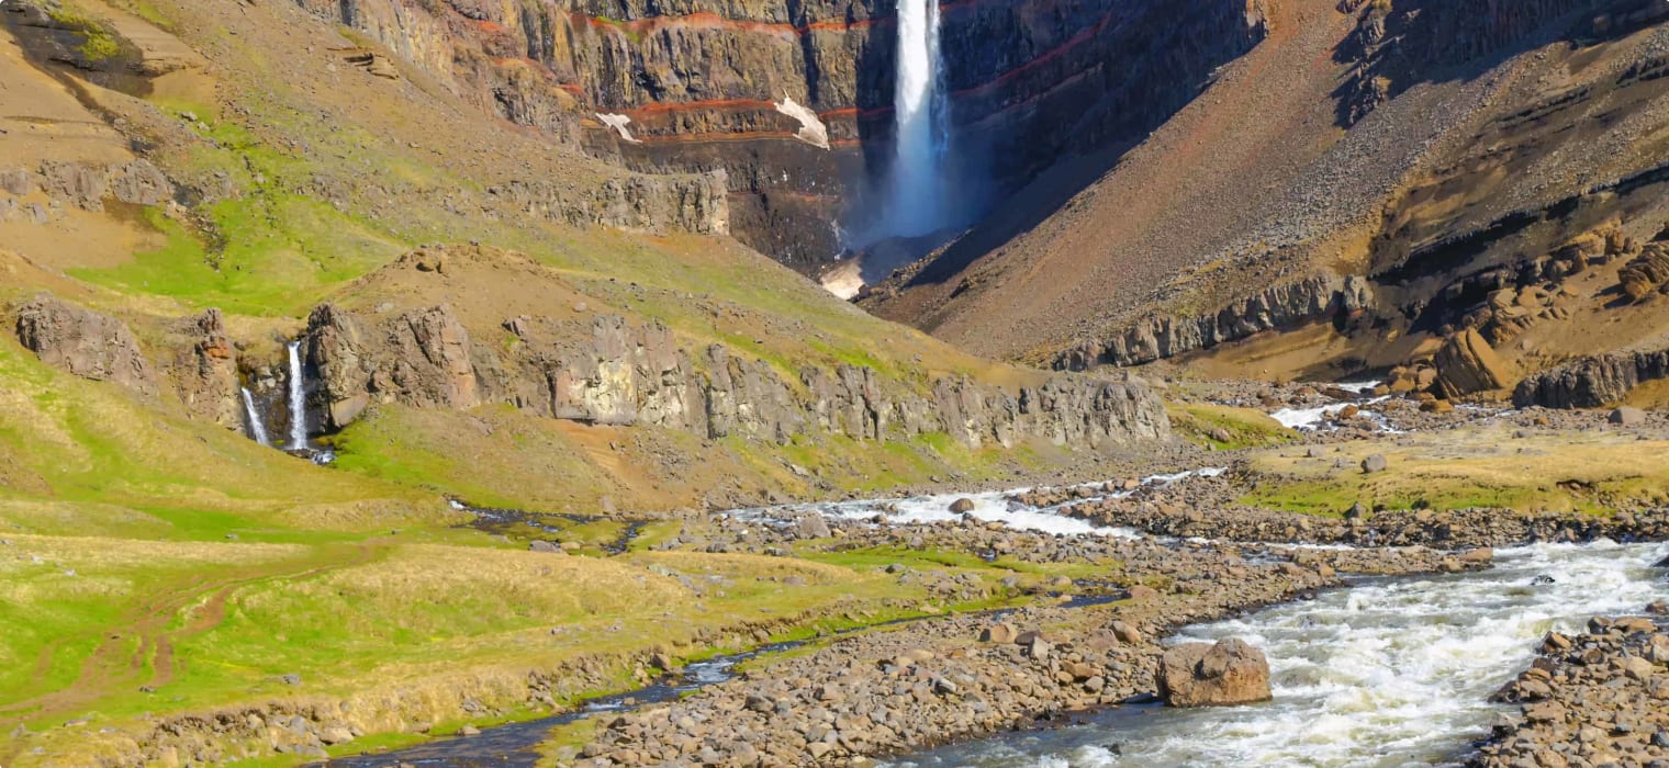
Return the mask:
[[(1270, 450), (1252, 458), (1255, 486), (1242, 501), (1317, 515), (1339, 515), (1355, 503), (1602, 511), (1669, 500), (1664, 450), (1669, 443), (1622, 433), (1517, 436), (1502, 425), (1342, 443), (1319, 458)], [(1374, 453), (1387, 458), (1387, 471), (1360, 470)]]

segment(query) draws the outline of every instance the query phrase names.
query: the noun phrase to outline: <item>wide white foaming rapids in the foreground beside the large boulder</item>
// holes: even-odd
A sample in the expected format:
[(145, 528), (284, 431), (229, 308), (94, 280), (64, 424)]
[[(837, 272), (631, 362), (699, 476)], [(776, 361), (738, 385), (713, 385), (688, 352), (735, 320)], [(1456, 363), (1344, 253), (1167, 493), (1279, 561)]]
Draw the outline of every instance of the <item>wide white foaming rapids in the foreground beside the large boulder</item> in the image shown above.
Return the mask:
[[(1489, 695), (1549, 630), (1637, 615), (1666, 595), (1661, 545), (1499, 550), (1479, 573), (1375, 580), (1185, 631), (1238, 636), (1270, 660), (1262, 705), (1110, 710), (1085, 725), (975, 741), (906, 766), (1452, 765), (1507, 706)], [(1539, 576), (1552, 578), (1537, 583)]]

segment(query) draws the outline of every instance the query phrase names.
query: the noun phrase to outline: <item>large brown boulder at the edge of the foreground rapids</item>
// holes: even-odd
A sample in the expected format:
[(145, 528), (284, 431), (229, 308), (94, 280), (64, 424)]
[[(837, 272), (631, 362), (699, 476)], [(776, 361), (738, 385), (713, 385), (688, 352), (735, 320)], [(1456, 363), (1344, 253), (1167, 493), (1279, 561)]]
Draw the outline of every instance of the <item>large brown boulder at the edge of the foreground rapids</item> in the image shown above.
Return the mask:
[(1157, 683), (1158, 696), (1170, 706), (1227, 706), (1270, 698), (1268, 660), (1238, 638), (1167, 650)]

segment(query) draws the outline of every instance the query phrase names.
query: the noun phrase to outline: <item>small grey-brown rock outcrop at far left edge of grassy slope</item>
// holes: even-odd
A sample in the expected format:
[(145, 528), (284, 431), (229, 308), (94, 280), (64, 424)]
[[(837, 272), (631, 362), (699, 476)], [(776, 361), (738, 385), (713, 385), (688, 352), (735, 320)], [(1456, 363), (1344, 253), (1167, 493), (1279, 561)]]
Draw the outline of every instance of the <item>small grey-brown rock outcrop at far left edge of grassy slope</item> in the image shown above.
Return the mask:
[(43, 363), (82, 378), (113, 382), (140, 395), (157, 378), (139, 340), (118, 318), (40, 295), (17, 310), (17, 338)]

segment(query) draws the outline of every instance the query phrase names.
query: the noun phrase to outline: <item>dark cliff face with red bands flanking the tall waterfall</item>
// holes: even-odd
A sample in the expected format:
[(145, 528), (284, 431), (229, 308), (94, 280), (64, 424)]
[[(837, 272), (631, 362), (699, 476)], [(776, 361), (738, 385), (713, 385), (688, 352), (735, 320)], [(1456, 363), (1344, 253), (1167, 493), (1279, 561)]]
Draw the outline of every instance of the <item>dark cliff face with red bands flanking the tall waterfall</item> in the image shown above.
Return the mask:
[[(297, 2), (487, 113), (633, 170), (728, 172), (734, 235), (806, 272), (875, 205), (891, 155), (886, 0)], [(978, 135), (953, 148), (966, 180), (1011, 192), (1063, 155), (1133, 143), (1262, 37), (1258, 3), (1185, 5), (941, 3), (951, 118)]]

